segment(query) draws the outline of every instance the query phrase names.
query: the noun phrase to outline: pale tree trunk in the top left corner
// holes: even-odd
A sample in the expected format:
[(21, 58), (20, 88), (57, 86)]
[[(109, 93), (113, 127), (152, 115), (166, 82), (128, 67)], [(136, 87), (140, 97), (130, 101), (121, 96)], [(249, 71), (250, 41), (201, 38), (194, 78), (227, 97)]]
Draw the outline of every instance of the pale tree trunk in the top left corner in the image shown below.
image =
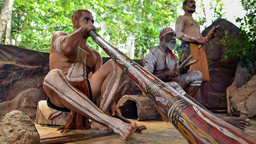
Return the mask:
[(5, 27), (7, 25), (6, 39), (7, 39), (7, 44), (10, 44), (12, 9), (13, 9), (13, 0), (5, 0), (1, 15), (0, 15), (0, 43), (2, 42), (2, 36), (4, 34)]

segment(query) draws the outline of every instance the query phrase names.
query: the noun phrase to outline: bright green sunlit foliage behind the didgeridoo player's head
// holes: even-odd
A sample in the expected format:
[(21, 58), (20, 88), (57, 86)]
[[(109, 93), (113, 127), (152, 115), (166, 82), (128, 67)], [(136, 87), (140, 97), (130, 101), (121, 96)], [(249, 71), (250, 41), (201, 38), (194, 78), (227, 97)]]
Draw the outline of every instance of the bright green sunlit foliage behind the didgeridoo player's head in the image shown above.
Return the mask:
[[(11, 43), (49, 52), (54, 31), (72, 33), (73, 13), (86, 9), (92, 12), (98, 33), (110, 44), (126, 49), (127, 37), (133, 35), (135, 59), (140, 59), (148, 49), (159, 43), (159, 31), (175, 22), (177, 7), (181, 3), (181, 0), (14, 0)], [(99, 49), (91, 38), (88, 42), (93, 49)], [(101, 54), (107, 57), (105, 52)]]

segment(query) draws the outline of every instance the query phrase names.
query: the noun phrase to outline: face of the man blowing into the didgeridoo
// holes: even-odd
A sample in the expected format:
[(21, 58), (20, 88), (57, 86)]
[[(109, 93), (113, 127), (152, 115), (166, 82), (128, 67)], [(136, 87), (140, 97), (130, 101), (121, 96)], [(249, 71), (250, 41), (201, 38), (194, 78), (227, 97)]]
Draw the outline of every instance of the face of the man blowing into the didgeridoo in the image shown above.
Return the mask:
[(77, 28), (85, 25), (93, 25), (94, 20), (90, 12), (82, 12), (81, 17), (77, 20)]

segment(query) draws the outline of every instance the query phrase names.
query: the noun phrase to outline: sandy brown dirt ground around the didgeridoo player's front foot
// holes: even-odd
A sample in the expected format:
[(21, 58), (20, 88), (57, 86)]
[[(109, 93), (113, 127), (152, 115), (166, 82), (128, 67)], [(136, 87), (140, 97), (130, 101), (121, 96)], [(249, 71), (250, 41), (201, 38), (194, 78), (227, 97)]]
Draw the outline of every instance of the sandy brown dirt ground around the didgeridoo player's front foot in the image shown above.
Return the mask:
[[(129, 120), (134, 121), (134, 119)], [(38, 124), (36, 124), (36, 129), (41, 136), (41, 143), (45, 143), (44, 140), (48, 138), (55, 138), (55, 140), (58, 138), (58, 140), (62, 141), (61, 143), (188, 143), (170, 122), (157, 120), (137, 121), (137, 125), (145, 125), (147, 130), (143, 130), (141, 133), (134, 133), (133, 137), (125, 142), (121, 141), (115, 133), (110, 131), (101, 132), (90, 129), (60, 133), (60, 131), (57, 131), (59, 126), (43, 126)], [(251, 118), (245, 132), (256, 138), (256, 117)], [(86, 135), (91, 135), (91, 137)]]

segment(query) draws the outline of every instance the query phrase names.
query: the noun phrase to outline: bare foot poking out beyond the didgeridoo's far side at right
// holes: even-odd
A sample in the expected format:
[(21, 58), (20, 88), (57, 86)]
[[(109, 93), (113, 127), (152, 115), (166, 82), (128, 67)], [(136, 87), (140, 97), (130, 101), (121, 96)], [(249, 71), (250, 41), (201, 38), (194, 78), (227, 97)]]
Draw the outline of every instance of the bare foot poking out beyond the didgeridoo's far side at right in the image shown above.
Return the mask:
[(221, 116), (221, 115), (217, 115), (220, 119), (222, 119), (223, 121), (241, 129), (241, 130), (245, 130), (246, 127), (248, 126), (250, 119), (248, 118), (243, 118), (243, 117), (226, 117), (226, 116)]

